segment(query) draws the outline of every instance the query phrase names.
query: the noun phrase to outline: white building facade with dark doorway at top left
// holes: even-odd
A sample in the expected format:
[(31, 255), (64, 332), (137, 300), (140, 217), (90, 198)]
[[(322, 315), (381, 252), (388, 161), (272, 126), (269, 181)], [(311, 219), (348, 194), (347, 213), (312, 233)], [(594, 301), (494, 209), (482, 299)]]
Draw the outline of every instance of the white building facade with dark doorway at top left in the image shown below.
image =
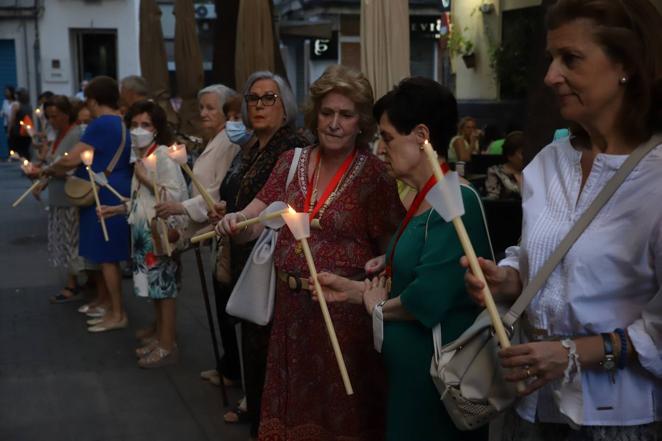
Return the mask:
[(15, 84), (34, 99), (45, 90), (73, 95), (97, 75), (140, 73), (139, 3), (0, 0), (0, 42), (14, 47)]

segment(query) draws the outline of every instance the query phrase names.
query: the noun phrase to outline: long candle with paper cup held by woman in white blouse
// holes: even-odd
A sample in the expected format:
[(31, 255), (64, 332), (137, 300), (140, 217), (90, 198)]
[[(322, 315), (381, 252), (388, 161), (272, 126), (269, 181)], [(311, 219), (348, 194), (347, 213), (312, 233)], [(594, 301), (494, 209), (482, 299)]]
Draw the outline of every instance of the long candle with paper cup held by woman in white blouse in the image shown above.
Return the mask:
[[(432, 144), (430, 144), (430, 142), (427, 139), (423, 143), (423, 150), (425, 151), (428, 162), (432, 167), (434, 176), (437, 178), (437, 182), (439, 184), (443, 183), (444, 174), (441, 171), (441, 166), (439, 165), (439, 159), (437, 157), (437, 153), (434, 151), (434, 149), (432, 148)], [(450, 206), (454, 203), (451, 200), (451, 196), (449, 195), (449, 190), (447, 188), (439, 192), (438, 195), (439, 198), (442, 198), (443, 200), (438, 201), (439, 204), (433, 203), (432, 204), (433, 207), (435, 205)], [(492, 320), (492, 326), (494, 327), (496, 335), (499, 339), (499, 344), (501, 345), (502, 349), (509, 348), (510, 340), (508, 339), (508, 334), (506, 334), (506, 329), (503, 326), (503, 322), (501, 321), (501, 316), (499, 315), (499, 311), (497, 310), (496, 304), (494, 303), (494, 298), (492, 297), (490, 288), (487, 282), (485, 281), (485, 275), (483, 274), (483, 270), (478, 264), (478, 257), (476, 256), (476, 251), (474, 250), (474, 247), (471, 244), (471, 239), (469, 239), (469, 234), (467, 233), (467, 229), (465, 228), (464, 223), (462, 222), (462, 218), (460, 216), (456, 216), (452, 219), (452, 223), (453, 223), (453, 227), (455, 227), (455, 232), (458, 236), (458, 239), (460, 239), (460, 243), (462, 244), (462, 249), (464, 250), (464, 254), (465, 256), (467, 256), (467, 259), (469, 260), (469, 266), (471, 267), (471, 271), (476, 275), (476, 277), (478, 277), (483, 282), (483, 286), (484, 286), (483, 295), (485, 297), (485, 307), (487, 308), (487, 312), (489, 313), (490, 319)], [(524, 390), (524, 388), (525, 388), (524, 383), (522, 382), (517, 383), (517, 389), (519, 391)]]

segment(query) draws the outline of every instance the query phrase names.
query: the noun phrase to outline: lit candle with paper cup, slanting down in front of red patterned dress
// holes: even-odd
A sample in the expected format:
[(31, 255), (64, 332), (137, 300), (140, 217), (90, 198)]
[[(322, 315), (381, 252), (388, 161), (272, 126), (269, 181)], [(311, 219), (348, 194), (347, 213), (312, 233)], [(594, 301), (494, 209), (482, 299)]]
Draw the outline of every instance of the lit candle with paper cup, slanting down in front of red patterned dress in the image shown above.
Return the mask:
[(338, 363), (338, 368), (340, 369), (340, 375), (342, 377), (343, 384), (345, 385), (345, 392), (347, 395), (352, 395), (354, 394), (352, 383), (349, 381), (349, 374), (347, 373), (345, 360), (343, 358), (342, 352), (340, 351), (340, 344), (338, 343), (336, 330), (333, 327), (333, 322), (331, 321), (331, 315), (329, 314), (329, 308), (326, 304), (324, 292), (322, 291), (322, 286), (317, 279), (317, 269), (315, 268), (313, 255), (310, 251), (310, 247), (308, 246), (308, 237), (310, 237), (310, 220), (308, 219), (308, 213), (297, 213), (292, 207), (289, 207), (287, 213), (283, 213), (283, 219), (292, 232), (294, 238), (298, 240), (299, 243), (301, 243), (301, 247), (303, 248), (303, 253), (306, 257), (306, 264), (308, 265), (308, 271), (310, 272), (310, 276), (313, 278), (315, 290), (317, 291), (317, 298), (319, 299), (320, 309), (322, 310), (322, 316), (324, 317), (326, 331), (329, 334), (331, 346), (333, 347), (333, 353), (336, 356), (336, 362)]

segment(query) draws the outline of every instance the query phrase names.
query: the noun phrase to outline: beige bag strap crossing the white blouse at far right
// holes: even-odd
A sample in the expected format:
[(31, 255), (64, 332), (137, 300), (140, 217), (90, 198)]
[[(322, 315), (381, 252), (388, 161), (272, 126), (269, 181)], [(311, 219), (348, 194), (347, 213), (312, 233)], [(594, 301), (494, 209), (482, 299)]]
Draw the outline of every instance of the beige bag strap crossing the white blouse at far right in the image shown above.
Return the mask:
[(538, 271), (533, 280), (526, 286), (522, 294), (520, 294), (517, 301), (510, 308), (510, 311), (503, 317), (503, 322), (506, 326), (513, 326), (515, 322), (522, 315), (526, 307), (531, 303), (533, 297), (540, 291), (543, 285), (547, 282), (554, 268), (559, 264), (563, 256), (570, 250), (575, 241), (584, 232), (586, 227), (591, 223), (593, 218), (600, 212), (602, 207), (609, 201), (612, 195), (616, 192), (618, 187), (625, 181), (630, 172), (636, 167), (648, 152), (653, 150), (656, 146), (662, 144), (662, 135), (654, 134), (646, 144), (635, 149), (623, 165), (618, 169), (616, 174), (607, 182), (605, 187), (600, 191), (595, 200), (586, 209), (584, 214), (581, 215), (577, 223), (566, 234), (554, 253), (547, 259), (547, 262)]

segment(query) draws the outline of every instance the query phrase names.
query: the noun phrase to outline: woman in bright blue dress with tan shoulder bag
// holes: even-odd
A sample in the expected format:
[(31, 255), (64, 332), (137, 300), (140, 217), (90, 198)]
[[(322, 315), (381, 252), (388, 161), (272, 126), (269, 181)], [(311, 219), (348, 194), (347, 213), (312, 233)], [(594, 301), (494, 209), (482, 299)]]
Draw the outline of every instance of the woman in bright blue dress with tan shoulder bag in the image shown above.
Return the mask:
[[(110, 77), (95, 77), (85, 89), (86, 106), (95, 117), (85, 130), (80, 142), (47, 169), (47, 172), (67, 171), (77, 167), (76, 176), (89, 179), (80, 155), (93, 149), (94, 162), (91, 169), (95, 173), (105, 173), (110, 186), (122, 196), (130, 193), (132, 170), (129, 164), (131, 137), (122, 123), (117, 110), (119, 91), (117, 82)], [(110, 172), (108, 172), (110, 170)], [(103, 205), (121, 203), (114, 194), (103, 186), (98, 187)], [(80, 208), (79, 254), (101, 266), (103, 289), (99, 298), (81, 312), (102, 321), (93, 324), (90, 332), (105, 332), (125, 328), (128, 324), (122, 306), (122, 274), (119, 262), (129, 258), (129, 225), (126, 218), (117, 216), (106, 220), (109, 240), (102, 234), (101, 225), (94, 205)], [(110, 303), (102, 306), (102, 303)]]

